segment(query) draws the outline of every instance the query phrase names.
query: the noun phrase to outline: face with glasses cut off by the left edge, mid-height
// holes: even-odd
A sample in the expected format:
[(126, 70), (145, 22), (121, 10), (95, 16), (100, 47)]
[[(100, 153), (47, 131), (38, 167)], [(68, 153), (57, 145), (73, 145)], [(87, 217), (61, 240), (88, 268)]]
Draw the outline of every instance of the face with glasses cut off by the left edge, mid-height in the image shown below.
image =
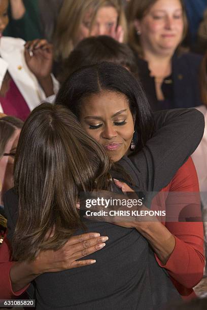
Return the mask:
[[(5, 153), (15, 153), (20, 129), (16, 129), (13, 136), (7, 142)], [(2, 183), (2, 193), (9, 190), (13, 186), (13, 166), (14, 166), (14, 156), (3, 156), (0, 159), (0, 179)]]

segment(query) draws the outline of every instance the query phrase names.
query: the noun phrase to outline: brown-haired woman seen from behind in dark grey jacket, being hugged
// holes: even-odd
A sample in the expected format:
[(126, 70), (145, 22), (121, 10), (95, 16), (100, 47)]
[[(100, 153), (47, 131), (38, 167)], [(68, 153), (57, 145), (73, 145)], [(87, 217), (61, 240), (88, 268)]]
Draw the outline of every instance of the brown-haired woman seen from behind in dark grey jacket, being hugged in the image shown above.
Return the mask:
[(44, 273), (36, 278), (36, 309), (150, 310), (179, 298), (136, 229), (80, 217), (76, 206), (80, 192), (113, 190), (120, 197), (109, 169), (120, 168), (71, 111), (45, 103), (31, 112), (17, 147), (15, 187), (7, 195), (14, 207), (7, 212), (18, 212), (18, 218), (17, 214), (12, 218), (16, 225), (12, 231), (14, 258), (30, 261), (41, 250), (56, 251), (84, 228), (109, 236), (102, 255), (94, 254), (94, 268)]

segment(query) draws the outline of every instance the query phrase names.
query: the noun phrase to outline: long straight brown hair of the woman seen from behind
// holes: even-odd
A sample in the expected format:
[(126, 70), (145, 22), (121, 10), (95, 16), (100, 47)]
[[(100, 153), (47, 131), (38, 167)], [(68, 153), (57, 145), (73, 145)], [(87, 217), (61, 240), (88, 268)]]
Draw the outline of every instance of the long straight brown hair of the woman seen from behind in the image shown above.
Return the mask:
[[(76, 208), (79, 192), (109, 184), (105, 150), (63, 106), (36, 107), (20, 134), (14, 167), (19, 194), (14, 236), (15, 258), (33, 258), (40, 249), (56, 249), (82, 222)], [(54, 235), (46, 238), (48, 231)]]

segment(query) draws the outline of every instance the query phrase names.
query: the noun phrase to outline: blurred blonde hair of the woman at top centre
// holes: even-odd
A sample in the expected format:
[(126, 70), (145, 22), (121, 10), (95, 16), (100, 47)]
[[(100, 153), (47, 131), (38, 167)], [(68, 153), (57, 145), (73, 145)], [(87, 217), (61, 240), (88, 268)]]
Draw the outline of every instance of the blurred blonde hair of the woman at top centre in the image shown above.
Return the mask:
[(66, 59), (74, 49), (74, 42), (86, 14), (90, 15), (91, 30), (97, 12), (103, 7), (113, 7), (118, 13), (118, 25), (124, 30), (124, 42), (127, 38), (127, 25), (123, 6), (119, 0), (64, 0), (54, 33), (55, 59)]

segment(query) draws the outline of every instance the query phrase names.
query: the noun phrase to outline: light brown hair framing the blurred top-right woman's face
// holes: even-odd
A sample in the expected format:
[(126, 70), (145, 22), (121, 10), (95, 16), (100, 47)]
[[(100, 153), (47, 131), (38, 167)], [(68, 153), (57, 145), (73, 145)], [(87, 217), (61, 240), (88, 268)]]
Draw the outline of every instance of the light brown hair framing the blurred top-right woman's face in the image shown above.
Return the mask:
[[(148, 13), (150, 8), (156, 3), (157, 0), (130, 0), (126, 8), (126, 18), (128, 22), (128, 42), (131, 48), (136, 51), (139, 55), (143, 54), (142, 46), (140, 42), (140, 36), (137, 35), (134, 27), (134, 20), (142, 20), (143, 17)], [(179, 0), (183, 11), (183, 38), (187, 34), (188, 21), (185, 11), (183, 0)]]

